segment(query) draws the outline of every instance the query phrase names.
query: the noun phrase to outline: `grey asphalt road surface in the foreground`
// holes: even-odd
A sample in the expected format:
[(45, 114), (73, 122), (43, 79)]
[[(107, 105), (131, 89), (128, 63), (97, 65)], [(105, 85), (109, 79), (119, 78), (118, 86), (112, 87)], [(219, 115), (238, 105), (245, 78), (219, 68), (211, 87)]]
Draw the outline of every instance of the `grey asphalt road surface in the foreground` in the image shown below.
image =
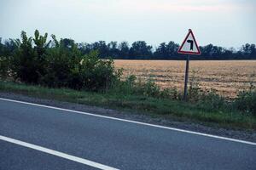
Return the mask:
[[(0, 99), (0, 136), (117, 169), (256, 169), (256, 145)], [(97, 169), (0, 139), (0, 170)]]

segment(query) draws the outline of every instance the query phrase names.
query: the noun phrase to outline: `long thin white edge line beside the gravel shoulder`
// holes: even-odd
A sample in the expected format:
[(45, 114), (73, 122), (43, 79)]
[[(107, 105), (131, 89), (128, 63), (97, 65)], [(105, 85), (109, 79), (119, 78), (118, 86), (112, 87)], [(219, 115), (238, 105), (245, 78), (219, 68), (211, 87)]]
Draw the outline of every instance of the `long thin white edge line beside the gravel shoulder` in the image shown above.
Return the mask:
[(4, 101), (15, 102), (15, 103), (20, 103), (20, 104), (25, 104), (25, 105), (35, 105), (35, 106), (45, 107), (45, 108), (49, 108), (49, 109), (55, 109), (55, 110), (59, 110), (59, 111), (69, 111), (69, 112), (79, 113), (79, 114), (88, 115), (88, 116), (97, 116), (97, 117), (112, 119), (112, 120), (121, 121), (121, 122), (131, 122), (131, 123), (136, 123), (136, 124), (150, 126), (150, 127), (160, 127), (160, 128), (165, 128), (165, 129), (177, 131), (177, 132), (191, 133), (191, 134), (206, 136), (206, 137), (210, 137), (210, 138), (214, 138), (214, 139), (224, 139), (224, 140), (229, 140), (229, 141), (232, 141), (232, 142), (238, 142), (238, 143), (242, 143), (242, 144), (256, 145), (256, 143), (249, 142), (249, 141), (246, 141), (246, 140), (231, 139), (231, 138), (226, 138), (226, 137), (222, 137), (222, 136), (218, 136), (218, 135), (212, 135), (212, 134), (207, 134), (207, 133), (198, 133), (198, 132), (189, 131), (189, 130), (183, 130), (183, 129), (175, 128), (175, 127), (165, 127), (165, 126), (154, 125), (154, 124), (145, 123), (145, 122), (130, 121), (130, 120), (120, 119), (120, 118), (111, 117), (111, 116), (96, 115), (96, 114), (87, 113), (87, 112), (84, 112), (84, 111), (73, 111), (73, 110), (63, 109), (63, 108), (49, 106), (49, 105), (33, 104), (33, 103), (19, 101), (19, 100), (14, 100), (14, 99), (3, 99), (3, 98), (0, 98), (0, 99), (2, 99)]

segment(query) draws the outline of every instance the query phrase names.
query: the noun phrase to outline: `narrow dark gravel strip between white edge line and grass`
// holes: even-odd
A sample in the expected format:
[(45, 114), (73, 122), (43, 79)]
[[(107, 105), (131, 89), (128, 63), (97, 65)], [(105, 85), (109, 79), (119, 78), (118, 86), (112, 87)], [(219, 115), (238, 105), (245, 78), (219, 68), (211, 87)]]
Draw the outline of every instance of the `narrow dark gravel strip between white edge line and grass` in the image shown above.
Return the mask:
[[(75, 111), (84, 111), (95, 113), (104, 116), (113, 116), (117, 118), (123, 118), (132, 121), (138, 122), (147, 122), (157, 125), (162, 125), (166, 127), (177, 127), (185, 130), (191, 130), (200, 133), (209, 133), (213, 135), (224, 136), (233, 139), (242, 139), (247, 141), (256, 142), (256, 132), (254, 130), (234, 130), (227, 129), (223, 127), (217, 127), (213, 125), (203, 125), (195, 122), (178, 122), (172, 120), (170, 117), (166, 116), (150, 116), (146, 113), (138, 113), (138, 112), (128, 112), (128, 111), (116, 111), (96, 106), (90, 105), (80, 105), (69, 102), (62, 102), (52, 99), (39, 99), (34, 97), (28, 97), (22, 94), (13, 94), (13, 93), (3, 93), (0, 92), (0, 98), (5, 99), (16, 99), (20, 101), (32, 102), (41, 105), (51, 105), (55, 107), (61, 107), (65, 109), (75, 110)], [(1, 116), (1, 115), (0, 115)]]

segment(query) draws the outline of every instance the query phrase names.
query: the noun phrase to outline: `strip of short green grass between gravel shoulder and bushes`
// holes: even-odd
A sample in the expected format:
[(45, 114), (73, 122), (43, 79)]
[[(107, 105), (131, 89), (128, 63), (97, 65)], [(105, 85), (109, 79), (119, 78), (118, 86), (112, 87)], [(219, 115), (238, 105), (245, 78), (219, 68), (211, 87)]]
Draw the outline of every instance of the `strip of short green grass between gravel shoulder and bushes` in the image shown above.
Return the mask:
[(256, 117), (239, 111), (207, 111), (198, 105), (172, 99), (136, 94), (96, 93), (67, 88), (44, 88), (0, 81), (0, 91), (25, 94), (42, 99), (55, 99), (85, 105), (96, 105), (119, 111), (136, 111), (150, 116), (163, 116), (178, 121), (200, 122), (220, 127), (256, 129)]

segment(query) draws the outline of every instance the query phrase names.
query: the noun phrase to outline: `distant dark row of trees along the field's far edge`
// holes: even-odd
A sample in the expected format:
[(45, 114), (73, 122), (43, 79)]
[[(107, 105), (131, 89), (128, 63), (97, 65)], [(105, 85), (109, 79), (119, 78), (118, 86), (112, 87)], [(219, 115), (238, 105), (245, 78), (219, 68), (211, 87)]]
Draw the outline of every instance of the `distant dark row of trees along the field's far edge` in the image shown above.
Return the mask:
[[(0, 37), (0, 55), (9, 55), (17, 48), (19, 39), (2, 41)], [(102, 59), (185, 59), (185, 55), (177, 54), (179, 44), (173, 41), (162, 42), (157, 48), (153, 48), (145, 41), (128, 42), (75, 42), (70, 38), (61, 38), (65, 47), (76, 45), (81, 54), (89, 54), (98, 50)], [(48, 48), (54, 47), (54, 42), (49, 42)], [(208, 44), (200, 46), (201, 55), (193, 56), (192, 59), (256, 59), (255, 44), (246, 43), (238, 50), (235, 48), (223, 48)]]

